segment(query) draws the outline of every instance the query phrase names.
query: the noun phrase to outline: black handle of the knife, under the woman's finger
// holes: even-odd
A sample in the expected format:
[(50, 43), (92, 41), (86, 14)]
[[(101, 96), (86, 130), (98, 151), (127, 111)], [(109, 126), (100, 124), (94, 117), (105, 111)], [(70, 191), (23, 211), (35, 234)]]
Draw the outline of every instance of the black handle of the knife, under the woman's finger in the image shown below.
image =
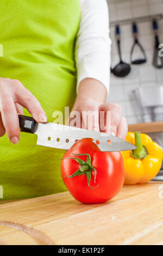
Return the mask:
[(35, 133), (37, 123), (32, 117), (26, 115), (18, 115), (21, 132)]

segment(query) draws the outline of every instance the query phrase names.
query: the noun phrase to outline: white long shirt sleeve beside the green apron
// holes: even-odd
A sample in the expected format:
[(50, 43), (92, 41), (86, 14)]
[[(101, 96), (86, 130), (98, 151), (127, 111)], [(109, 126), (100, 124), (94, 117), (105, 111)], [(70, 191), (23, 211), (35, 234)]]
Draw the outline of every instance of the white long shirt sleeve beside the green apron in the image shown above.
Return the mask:
[(110, 83), (109, 13), (106, 0), (79, 0), (81, 20), (76, 41), (77, 93), (85, 78)]

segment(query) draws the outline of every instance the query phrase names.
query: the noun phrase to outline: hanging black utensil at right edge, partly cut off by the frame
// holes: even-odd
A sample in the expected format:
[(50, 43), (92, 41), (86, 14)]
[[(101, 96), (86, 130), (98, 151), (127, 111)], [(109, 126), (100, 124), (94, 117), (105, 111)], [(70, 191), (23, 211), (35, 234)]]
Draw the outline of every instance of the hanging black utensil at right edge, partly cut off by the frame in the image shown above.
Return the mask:
[(158, 23), (156, 20), (153, 20), (153, 30), (155, 35), (155, 46), (154, 46), (154, 54), (153, 54), (153, 65), (157, 69), (163, 68), (163, 57), (159, 56), (159, 36), (158, 36)]

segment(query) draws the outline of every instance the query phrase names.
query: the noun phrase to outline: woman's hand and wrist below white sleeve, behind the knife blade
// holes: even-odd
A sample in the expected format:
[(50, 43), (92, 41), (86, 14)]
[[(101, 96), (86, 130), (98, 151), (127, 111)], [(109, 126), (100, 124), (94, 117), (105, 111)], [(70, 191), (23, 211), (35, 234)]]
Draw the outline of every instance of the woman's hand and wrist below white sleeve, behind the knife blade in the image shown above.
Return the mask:
[[(78, 111), (80, 113), (80, 116), (82, 117), (83, 111), (91, 111), (98, 113), (109, 112), (109, 123), (106, 122), (106, 115), (103, 115), (102, 117), (104, 120), (102, 120), (101, 118), (101, 120), (99, 121), (99, 119), (94, 118), (92, 129), (101, 132), (107, 132), (110, 133), (111, 135), (125, 139), (128, 131), (128, 125), (126, 118), (122, 117), (122, 109), (116, 103), (104, 103), (105, 97), (106, 89), (102, 83), (93, 79), (83, 80), (82, 83), (80, 83), (78, 96), (72, 109), (72, 113), (73, 111)], [(70, 122), (72, 119), (73, 117), (70, 118)], [(83, 117), (82, 119), (84, 121)], [(102, 124), (105, 124), (105, 130), (104, 126), (101, 125), (101, 122)], [(89, 129), (89, 127), (87, 126), (87, 121), (83, 123), (84, 128)], [(82, 126), (80, 125), (80, 127)]]

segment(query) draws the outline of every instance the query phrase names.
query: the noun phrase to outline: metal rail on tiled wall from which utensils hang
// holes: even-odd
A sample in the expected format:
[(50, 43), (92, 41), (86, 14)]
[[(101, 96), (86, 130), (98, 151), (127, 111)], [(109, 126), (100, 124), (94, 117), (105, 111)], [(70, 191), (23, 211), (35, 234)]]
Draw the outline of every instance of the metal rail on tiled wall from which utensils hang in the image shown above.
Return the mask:
[(126, 19), (126, 20), (119, 20), (119, 21), (111, 21), (110, 26), (113, 27), (113, 26), (116, 26), (117, 24), (121, 26), (121, 25), (131, 24), (133, 22), (139, 23), (139, 22), (145, 22), (145, 21), (152, 21), (153, 19), (155, 19), (156, 21), (162, 20), (163, 14), (148, 15), (148, 16), (136, 17), (136, 18)]

